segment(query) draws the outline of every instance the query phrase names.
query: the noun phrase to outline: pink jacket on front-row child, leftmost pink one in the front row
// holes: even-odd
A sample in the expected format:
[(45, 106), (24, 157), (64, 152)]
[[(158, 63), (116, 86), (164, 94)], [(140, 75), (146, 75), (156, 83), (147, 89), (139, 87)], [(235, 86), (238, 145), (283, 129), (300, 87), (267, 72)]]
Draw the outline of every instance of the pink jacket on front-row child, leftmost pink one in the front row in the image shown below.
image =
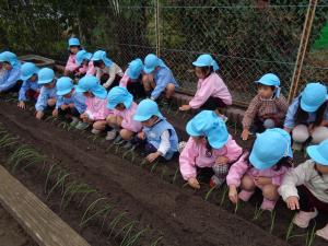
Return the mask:
[(114, 114), (113, 110), (107, 108), (107, 98), (101, 99), (96, 96), (87, 97), (85, 101), (86, 110), (89, 118), (97, 121), (97, 120), (105, 120), (108, 115)]

